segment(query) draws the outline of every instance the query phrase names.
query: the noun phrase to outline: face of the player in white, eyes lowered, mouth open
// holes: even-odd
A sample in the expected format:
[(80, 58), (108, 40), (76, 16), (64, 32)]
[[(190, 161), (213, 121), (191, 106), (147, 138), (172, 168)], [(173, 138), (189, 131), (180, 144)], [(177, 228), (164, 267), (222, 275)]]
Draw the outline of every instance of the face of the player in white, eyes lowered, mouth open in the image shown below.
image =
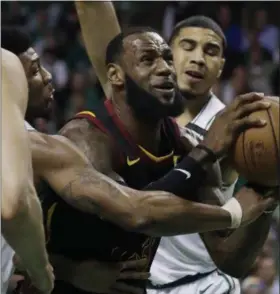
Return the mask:
[(222, 39), (209, 29), (183, 28), (172, 52), (180, 92), (186, 98), (208, 94), (223, 70)]

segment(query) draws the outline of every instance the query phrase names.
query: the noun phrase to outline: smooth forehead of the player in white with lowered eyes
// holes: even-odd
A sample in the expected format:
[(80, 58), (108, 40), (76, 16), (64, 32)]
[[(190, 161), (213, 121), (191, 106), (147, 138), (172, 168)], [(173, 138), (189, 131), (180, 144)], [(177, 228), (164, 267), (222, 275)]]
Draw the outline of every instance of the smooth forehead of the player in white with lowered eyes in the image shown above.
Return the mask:
[(182, 28), (176, 38), (177, 41), (184, 39), (193, 40), (198, 43), (215, 42), (222, 45), (222, 38), (211, 29), (198, 28), (198, 27), (186, 27)]

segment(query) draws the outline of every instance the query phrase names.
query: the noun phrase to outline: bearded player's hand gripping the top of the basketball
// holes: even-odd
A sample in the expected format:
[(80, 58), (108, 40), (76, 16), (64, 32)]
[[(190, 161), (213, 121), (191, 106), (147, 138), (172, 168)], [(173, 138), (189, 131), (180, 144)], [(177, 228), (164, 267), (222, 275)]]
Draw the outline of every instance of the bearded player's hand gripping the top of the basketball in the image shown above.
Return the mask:
[(236, 97), (217, 115), (202, 144), (218, 157), (223, 157), (244, 130), (265, 126), (265, 121), (249, 117), (253, 112), (270, 107), (270, 103), (263, 98), (264, 95), (260, 93), (248, 93)]

